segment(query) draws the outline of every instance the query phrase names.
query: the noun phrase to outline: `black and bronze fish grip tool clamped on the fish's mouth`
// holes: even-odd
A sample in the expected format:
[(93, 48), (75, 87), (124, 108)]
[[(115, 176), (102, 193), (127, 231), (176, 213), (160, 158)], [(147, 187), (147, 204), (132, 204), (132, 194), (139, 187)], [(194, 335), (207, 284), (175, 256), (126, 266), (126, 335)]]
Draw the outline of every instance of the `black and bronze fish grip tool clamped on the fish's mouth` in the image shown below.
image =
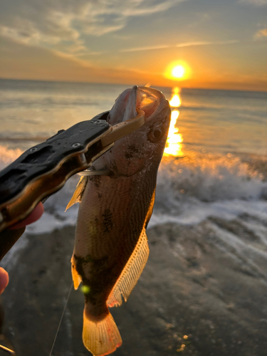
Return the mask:
[(112, 127), (106, 121), (108, 114), (102, 112), (58, 131), (0, 172), (0, 231), (25, 219), (39, 201), (57, 192), (69, 177), (90, 167), (116, 140), (145, 122), (145, 112), (138, 110), (136, 117)]

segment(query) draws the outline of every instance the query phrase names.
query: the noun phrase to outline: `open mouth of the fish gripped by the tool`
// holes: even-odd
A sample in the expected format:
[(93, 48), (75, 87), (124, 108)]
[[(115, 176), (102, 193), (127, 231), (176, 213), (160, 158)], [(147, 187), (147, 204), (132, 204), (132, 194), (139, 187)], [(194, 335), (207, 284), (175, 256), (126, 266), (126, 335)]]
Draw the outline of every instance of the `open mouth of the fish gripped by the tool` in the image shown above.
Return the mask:
[(110, 110), (108, 122), (116, 125), (137, 116), (137, 109), (145, 112), (145, 120), (149, 121), (162, 110), (166, 99), (162, 92), (154, 88), (133, 86), (126, 89), (116, 100)]

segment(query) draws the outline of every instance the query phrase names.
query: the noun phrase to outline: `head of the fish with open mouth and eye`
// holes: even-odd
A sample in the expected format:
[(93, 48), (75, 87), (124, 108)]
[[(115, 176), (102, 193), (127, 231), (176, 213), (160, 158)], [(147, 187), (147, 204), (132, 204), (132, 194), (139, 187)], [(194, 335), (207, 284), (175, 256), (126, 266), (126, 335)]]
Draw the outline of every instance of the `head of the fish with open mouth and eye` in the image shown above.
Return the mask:
[(137, 85), (126, 89), (115, 101), (107, 121), (113, 126), (131, 120), (137, 116), (137, 109), (145, 112), (145, 124), (117, 140), (98, 162), (114, 174), (131, 176), (142, 169), (158, 167), (162, 159), (171, 110), (159, 90)]

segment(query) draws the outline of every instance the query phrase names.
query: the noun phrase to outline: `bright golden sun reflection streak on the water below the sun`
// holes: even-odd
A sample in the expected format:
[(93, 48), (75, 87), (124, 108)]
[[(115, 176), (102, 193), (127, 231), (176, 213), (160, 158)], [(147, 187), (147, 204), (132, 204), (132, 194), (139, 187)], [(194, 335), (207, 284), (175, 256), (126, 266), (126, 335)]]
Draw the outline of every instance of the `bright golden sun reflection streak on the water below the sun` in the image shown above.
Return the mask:
[(177, 119), (179, 117), (179, 106), (181, 106), (181, 98), (179, 97), (179, 88), (172, 89), (172, 98), (169, 100), (169, 105), (172, 109), (171, 122), (169, 124), (169, 134), (164, 149), (164, 156), (182, 156), (182, 135), (178, 133)]

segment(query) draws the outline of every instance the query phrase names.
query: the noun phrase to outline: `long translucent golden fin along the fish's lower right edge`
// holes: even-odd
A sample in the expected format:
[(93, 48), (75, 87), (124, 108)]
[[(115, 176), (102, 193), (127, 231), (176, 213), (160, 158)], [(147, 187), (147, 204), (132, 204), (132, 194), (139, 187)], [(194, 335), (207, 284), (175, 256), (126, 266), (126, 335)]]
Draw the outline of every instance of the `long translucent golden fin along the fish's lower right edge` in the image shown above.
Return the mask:
[(122, 305), (122, 297), (126, 302), (145, 268), (149, 253), (150, 249), (144, 228), (129, 261), (127, 261), (125, 268), (123, 268), (119, 279), (108, 296), (107, 303), (109, 307)]

